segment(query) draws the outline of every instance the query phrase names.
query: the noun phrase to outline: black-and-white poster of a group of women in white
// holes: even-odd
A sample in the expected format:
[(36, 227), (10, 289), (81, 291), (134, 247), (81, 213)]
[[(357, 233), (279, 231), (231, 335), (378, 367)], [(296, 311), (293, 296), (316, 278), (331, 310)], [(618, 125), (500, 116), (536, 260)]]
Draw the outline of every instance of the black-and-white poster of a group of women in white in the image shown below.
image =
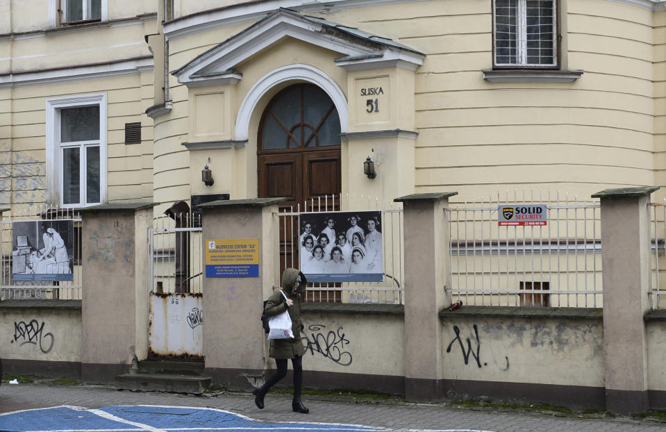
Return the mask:
[(381, 282), (381, 211), (301, 213), (301, 272), (310, 282)]

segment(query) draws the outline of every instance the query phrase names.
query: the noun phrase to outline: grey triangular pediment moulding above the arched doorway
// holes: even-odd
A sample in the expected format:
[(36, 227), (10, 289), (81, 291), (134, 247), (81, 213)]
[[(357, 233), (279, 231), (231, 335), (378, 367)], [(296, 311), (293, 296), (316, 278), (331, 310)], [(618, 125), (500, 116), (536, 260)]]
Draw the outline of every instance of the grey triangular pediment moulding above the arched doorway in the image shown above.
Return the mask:
[(236, 65), (285, 37), (341, 53), (335, 64), (347, 70), (390, 66), (416, 69), (425, 57), (410, 47), (358, 28), (281, 8), (172, 74), (188, 87), (236, 83), (242, 78), (233, 70)]

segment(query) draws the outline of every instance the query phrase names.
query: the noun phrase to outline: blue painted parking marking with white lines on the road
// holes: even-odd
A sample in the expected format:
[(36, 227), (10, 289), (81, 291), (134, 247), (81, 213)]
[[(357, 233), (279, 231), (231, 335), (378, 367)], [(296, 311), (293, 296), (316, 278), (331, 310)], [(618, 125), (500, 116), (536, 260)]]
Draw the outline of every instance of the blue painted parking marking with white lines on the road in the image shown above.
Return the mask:
[[(357, 424), (263, 422), (215, 408), (57, 406), (0, 414), (0, 432), (392, 432)], [(483, 432), (447, 429), (432, 432)]]

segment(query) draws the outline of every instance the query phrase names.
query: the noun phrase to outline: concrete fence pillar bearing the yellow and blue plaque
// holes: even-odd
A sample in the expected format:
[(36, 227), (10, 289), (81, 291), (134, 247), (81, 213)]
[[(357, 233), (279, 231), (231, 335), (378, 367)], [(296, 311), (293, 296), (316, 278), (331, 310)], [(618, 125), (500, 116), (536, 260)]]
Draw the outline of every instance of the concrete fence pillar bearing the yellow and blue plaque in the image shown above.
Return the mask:
[(263, 383), (268, 353), (260, 317), (263, 300), (280, 283), (279, 226), (274, 214), (281, 201), (284, 199), (240, 199), (199, 206), (203, 210), (204, 259), (213, 240), (259, 241), (258, 276), (203, 279), (206, 374), (224, 388), (247, 390)]

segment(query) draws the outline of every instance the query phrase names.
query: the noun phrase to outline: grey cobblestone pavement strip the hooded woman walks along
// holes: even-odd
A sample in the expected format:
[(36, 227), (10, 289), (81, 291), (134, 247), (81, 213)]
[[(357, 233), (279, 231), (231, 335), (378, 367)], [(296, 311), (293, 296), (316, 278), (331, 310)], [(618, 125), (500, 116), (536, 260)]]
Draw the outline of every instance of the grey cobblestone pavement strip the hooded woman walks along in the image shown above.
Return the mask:
[(252, 419), (271, 422), (326, 422), (360, 424), (390, 429), (469, 429), (492, 432), (666, 431), (666, 424), (635, 420), (558, 417), (544, 413), (474, 410), (448, 404), (405, 404), (399, 401), (352, 401), (345, 397), (304, 395), (310, 414), (291, 411), (289, 394), (269, 393), (259, 410), (247, 393), (221, 392), (194, 396), (163, 392), (130, 392), (102, 385), (49, 385), (21, 383), (0, 387), (0, 413), (59, 405), (101, 408), (112, 405), (163, 405), (229, 410)]

